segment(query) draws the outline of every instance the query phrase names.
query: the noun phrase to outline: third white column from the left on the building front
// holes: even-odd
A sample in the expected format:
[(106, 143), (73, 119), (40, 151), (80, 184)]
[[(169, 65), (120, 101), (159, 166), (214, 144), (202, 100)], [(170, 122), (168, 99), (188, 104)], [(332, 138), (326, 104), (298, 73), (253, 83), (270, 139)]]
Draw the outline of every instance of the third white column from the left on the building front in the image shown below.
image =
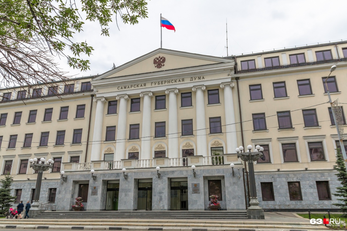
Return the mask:
[(150, 91), (141, 92), (143, 97), (142, 109), (142, 134), (141, 134), (141, 155), (139, 159), (151, 159), (151, 98), (153, 94)]

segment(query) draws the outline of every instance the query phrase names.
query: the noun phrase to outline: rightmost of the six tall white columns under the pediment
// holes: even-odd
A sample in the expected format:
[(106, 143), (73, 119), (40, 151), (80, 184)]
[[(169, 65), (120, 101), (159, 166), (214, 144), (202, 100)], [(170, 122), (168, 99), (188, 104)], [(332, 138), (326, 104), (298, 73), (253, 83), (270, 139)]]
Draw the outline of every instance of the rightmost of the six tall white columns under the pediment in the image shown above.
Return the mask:
[(225, 123), (227, 133), (227, 152), (235, 153), (237, 146), (236, 138), (236, 125), (235, 125), (235, 111), (234, 100), (232, 100), (232, 88), (234, 88), (233, 82), (226, 82), (220, 85), (224, 89), (224, 111), (225, 111)]

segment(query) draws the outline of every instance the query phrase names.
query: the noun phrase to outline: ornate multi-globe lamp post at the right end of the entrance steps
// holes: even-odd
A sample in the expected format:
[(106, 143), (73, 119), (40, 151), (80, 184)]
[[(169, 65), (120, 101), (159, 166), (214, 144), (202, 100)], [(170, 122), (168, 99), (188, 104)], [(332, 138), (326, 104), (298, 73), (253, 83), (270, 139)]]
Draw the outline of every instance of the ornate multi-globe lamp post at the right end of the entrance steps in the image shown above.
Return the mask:
[(239, 148), (236, 148), (237, 152), (237, 158), (240, 158), (243, 161), (248, 162), (248, 169), (249, 169), (249, 188), (251, 197), (249, 198), (249, 207), (247, 208), (247, 216), (248, 219), (265, 219), (264, 217), (264, 210), (262, 207), (259, 206), (259, 201), (257, 197), (257, 190), (255, 186), (255, 176), (254, 176), (254, 167), (253, 162), (257, 161), (260, 157), (263, 156), (263, 153), (261, 151), (264, 151), (264, 148), (256, 145), (255, 149), (256, 152), (251, 152), (252, 145), (248, 145), (247, 149), (248, 151), (243, 151), (243, 146), (239, 146)]

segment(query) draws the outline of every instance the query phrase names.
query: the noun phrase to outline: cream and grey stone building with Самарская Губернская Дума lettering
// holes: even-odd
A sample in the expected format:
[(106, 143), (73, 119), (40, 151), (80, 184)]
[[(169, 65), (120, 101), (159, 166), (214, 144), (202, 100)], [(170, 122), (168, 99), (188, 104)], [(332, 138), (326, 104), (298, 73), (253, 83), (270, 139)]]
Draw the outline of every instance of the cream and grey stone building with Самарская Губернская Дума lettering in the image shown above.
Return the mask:
[(95, 211), (207, 210), (212, 194), (224, 210), (245, 210), (247, 166), (235, 149), (261, 145), (260, 206), (337, 208), (339, 143), (323, 83), (337, 65), (327, 83), (343, 115), (346, 57), (347, 42), (223, 58), (158, 49), (68, 85), (1, 89), (1, 174), (30, 200), (28, 160), (54, 160), (40, 202), (57, 210), (78, 196)]

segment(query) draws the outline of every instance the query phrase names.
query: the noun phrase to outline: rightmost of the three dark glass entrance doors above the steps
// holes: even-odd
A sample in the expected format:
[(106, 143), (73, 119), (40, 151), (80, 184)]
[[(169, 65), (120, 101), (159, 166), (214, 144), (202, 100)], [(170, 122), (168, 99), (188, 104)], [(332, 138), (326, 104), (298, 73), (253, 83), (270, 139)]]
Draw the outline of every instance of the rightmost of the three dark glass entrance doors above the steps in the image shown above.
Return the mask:
[(171, 210), (188, 210), (188, 178), (171, 178)]

